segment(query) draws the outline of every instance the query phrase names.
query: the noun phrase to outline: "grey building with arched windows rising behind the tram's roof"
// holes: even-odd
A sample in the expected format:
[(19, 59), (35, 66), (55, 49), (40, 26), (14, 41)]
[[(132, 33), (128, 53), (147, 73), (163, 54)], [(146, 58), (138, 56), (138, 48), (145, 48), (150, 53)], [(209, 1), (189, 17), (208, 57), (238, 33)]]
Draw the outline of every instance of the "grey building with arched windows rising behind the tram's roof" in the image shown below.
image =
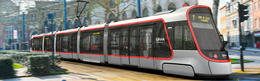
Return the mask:
[[(109, 19), (125, 20), (137, 17), (137, 0), (90, 0), (83, 10), (80, 20), (76, 17), (78, 8), (76, 1), (67, 1), (67, 29), (92, 24), (105, 23)], [(27, 9), (26, 39), (34, 34), (50, 32), (48, 14), (54, 14), (55, 30), (64, 30), (64, 3), (62, 1), (35, 1), (35, 7)], [(119, 4), (119, 6), (118, 6)], [(141, 0), (141, 16), (152, 16), (157, 12), (176, 10), (185, 6), (197, 5), (197, 0)], [(80, 21), (80, 22), (79, 22)], [(28, 41), (29, 42), (29, 41)]]

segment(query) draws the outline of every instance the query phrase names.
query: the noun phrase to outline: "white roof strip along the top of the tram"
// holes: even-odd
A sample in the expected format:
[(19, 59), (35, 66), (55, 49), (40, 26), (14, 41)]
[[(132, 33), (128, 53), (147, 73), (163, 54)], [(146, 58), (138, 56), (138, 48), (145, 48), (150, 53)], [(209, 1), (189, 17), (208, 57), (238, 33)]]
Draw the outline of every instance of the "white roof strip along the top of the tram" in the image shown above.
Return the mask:
[[(141, 21), (148, 21), (148, 20), (154, 20), (154, 19), (163, 19), (164, 22), (175, 22), (175, 21), (185, 21), (187, 20), (186, 17), (186, 12), (187, 10), (192, 7), (192, 6), (188, 6), (188, 7), (182, 7), (177, 9), (174, 12), (162, 12), (163, 14), (155, 14), (153, 16), (149, 16), (149, 17), (142, 17), (142, 18), (135, 18), (135, 19), (128, 19), (128, 20), (122, 20), (122, 21), (118, 21), (118, 22), (111, 22), (109, 23), (109, 27), (110, 26), (115, 26), (115, 25), (119, 25), (119, 24), (128, 24), (128, 23), (135, 23), (135, 22), (141, 22)], [(87, 29), (93, 29), (93, 28), (104, 28), (105, 23), (104, 24), (97, 24), (97, 25), (89, 25), (88, 27), (81, 27), (80, 30), (87, 30)], [(78, 31), (79, 28), (74, 28), (74, 29), (68, 29), (68, 30), (63, 30), (63, 31), (57, 31), (54, 32), (54, 34), (61, 34), (61, 33), (66, 33), (66, 32), (76, 32)], [(34, 35), (33, 37), (42, 37), (42, 36), (48, 36), (51, 35), (51, 33), (43, 33), (43, 34), (38, 34), (38, 35)]]

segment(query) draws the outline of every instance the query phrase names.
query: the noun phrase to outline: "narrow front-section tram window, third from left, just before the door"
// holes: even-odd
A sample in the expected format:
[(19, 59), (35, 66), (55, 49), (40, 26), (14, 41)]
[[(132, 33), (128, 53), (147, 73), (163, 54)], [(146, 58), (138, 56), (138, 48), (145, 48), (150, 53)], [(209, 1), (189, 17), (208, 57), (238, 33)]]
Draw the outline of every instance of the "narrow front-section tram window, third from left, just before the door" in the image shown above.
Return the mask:
[(139, 56), (139, 28), (132, 27), (130, 30), (130, 56)]

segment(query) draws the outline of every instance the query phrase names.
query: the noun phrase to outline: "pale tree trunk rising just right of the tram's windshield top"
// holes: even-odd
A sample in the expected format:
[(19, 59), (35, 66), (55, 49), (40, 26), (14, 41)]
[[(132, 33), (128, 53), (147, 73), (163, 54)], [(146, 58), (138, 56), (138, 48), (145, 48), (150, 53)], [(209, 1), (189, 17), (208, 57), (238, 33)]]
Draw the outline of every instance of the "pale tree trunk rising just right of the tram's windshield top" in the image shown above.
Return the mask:
[(214, 18), (214, 21), (216, 23), (216, 25), (218, 24), (218, 7), (219, 7), (219, 0), (213, 0), (214, 3), (213, 3), (213, 18)]

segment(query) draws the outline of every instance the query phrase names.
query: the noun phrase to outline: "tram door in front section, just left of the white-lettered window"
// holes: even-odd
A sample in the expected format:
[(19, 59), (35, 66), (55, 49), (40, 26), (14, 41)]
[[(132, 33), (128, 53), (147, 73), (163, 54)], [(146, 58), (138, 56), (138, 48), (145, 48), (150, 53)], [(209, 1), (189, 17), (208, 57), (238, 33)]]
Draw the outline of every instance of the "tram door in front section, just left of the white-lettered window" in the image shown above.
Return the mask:
[[(140, 28), (140, 67), (154, 68), (152, 53), (153, 25), (145, 25)], [(142, 58), (143, 57), (143, 58)]]

